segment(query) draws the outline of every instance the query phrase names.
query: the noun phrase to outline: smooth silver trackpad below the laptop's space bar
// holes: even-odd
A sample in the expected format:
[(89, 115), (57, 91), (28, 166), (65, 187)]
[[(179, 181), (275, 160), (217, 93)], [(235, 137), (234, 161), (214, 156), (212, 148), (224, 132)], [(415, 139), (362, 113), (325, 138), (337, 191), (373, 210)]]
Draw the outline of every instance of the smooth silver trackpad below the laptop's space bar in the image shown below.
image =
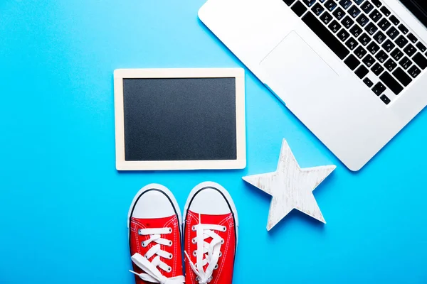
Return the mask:
[(285, 104), (320, 102), (320, 93), (332, 91), (338, 77), (295, 31), (290, 32), (260, 66), (267, 74), (269, 87)]

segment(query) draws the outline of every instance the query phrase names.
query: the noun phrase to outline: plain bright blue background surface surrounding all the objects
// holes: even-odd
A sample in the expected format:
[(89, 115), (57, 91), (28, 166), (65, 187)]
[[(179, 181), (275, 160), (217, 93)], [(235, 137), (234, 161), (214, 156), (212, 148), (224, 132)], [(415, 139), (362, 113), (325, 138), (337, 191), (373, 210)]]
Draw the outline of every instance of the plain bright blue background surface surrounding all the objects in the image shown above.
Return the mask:
[[(427, 112), (352, 173), (246, 72), (246, 170), (118, 173), (112, 72), (243, 67), (197, 18), (204, 0), (0, 1), (0, 283), (133, 283), (127, 210), (159, 182), (181, 207), (199, 182), (240, 215), (234, 283), (427, 283)], [(282, 138), (324, 226), (292, 212), (268, 233), (270, 197), (241, 180), (275, 170)]]

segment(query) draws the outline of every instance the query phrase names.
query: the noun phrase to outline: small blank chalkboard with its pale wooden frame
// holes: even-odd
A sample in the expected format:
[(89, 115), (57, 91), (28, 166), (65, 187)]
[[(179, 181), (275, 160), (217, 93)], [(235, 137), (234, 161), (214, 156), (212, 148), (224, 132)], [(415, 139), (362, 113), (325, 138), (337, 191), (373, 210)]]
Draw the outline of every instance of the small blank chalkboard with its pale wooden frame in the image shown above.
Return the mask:
[(243, 76), (237, 68), (116, 70), (116, 168), (244, 168)]

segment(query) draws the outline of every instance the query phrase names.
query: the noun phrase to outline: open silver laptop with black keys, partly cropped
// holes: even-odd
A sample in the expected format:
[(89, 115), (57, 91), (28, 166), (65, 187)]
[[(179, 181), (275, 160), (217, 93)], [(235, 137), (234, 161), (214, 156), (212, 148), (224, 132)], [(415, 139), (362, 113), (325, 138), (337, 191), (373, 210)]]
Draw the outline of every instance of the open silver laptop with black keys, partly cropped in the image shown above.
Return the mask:
[(426, 107), (426, 0), (208, 0), (199, 18), (350, 170)]

